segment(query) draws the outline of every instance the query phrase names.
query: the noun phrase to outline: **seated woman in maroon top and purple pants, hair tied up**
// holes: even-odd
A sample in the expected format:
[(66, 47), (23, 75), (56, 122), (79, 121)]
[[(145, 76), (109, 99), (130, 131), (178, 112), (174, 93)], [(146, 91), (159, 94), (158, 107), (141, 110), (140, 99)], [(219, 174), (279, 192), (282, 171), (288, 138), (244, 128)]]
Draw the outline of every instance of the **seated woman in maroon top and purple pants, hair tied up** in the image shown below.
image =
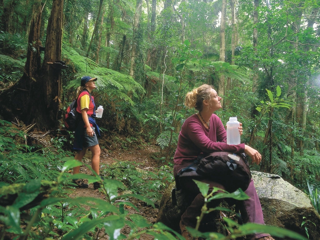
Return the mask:
[[(252, 162), (256, 164), (261, 162), (261, 154), (248, 145), (244, 143), (239, 145), (227, 144), (227, 132), (220, 118), (213, 114), (214, 111), (221, 108), (221, 99), (213, 87), (207, 84), (187, 93), (185, 105), (188, 108), (194, 107), (199, 112), (188, 117), (181, 127), (177, 150), (174, 154), (174, 176), (183, 168), (193, 163), (194, 159), (196, 159), (200, 153), (208, 154), (217, 151), (244, 152), (251, 157)], [(242, 134), (242, 131), (242, 126), (240, 126), (240, 134)], [(194, 178), (180, 177), (179, 181), (181, 188), (192, 195), (191, 198), (194, 199), (181, 216), (181, 235), (186, 239), (193, 239), (186, 229), (186, 226), (196, 227), (196, 217), (200, 216), (201, 208), (204, 205), (204, 197), (192, 179)], [(213, 182), (209, 179), (197, 178), (197, 180), (209, 184), (210, 189), (213, 187), (225, 189), (223, 184)], [(241, 212), (243, 222), (264, 224), (261, 204), (256, 189), (254, 188), (253, 180), (251, 180), (245, 193), (250, 199), (238, 201), (238, 208)], [(215, 207), (220, 204), (220, 201), (211, 202), (210, 204), (210, 207)], [(252, 236), (251, 239), (274, 240), (269, 234), (256, 234)]]

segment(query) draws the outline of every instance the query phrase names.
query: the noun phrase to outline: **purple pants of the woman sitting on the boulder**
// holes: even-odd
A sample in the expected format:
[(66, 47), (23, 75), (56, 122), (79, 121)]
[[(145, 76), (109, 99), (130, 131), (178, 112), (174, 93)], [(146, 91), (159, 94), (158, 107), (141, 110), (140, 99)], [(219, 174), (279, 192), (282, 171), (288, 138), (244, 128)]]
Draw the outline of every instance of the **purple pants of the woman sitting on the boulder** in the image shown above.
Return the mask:
[[(209, 191), (211, 191), (213, 187), (225, 189), (221, 184), (217, 182), (213, 182), (207, 179), (197, 179), (197, 180), (202, 181), (204, 183), (208, 183), (210, 186)], [(188, 177), (180, 178), (180, 185), (184, 191), (190, 194), (189, 196), (195, 196), (190, 206), (182, 214), (181, 221), (186, 226), (195, 228), (196, 217), (200, 216), (201, 208), (204, 205), (204, 197), (200, 193), (199, 188), (197, 187), (196, 183), (192, 180), (192, 178), (188, 178)], [(248, 189), (245, 191), (245, 194), (247, 194), (250, 198), (244, 201), (237, 201), (236, 203), (237, 207), (240, 210), (243, 222), (244, 223), (252, 222), (252, 223), (258, 223), (258, 224), (264, 225), (260, 200), (259, 200), (257, 191), (254, 187), (252, 179)], [(209, 208), (217, 207), (221, 201), (222, 200), (220, 199), (213, 200), (208, 204), (208, 207)], [(270, 236), (270, 234), (260, 234), (260, 233), (255, 234), (254, 236), (252, 236), (251, 239), (252, 240), (258, 239), (264, 236)]]

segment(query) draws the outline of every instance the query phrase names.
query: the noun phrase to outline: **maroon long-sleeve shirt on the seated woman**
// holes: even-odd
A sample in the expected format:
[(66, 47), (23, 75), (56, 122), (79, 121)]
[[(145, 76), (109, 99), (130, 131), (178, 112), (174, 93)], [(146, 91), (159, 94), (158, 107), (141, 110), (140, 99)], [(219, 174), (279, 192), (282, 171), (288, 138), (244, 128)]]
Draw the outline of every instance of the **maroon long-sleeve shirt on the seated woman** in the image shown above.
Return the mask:
[(227, 144), (227, 131), (220, 118), (212, 114), (210, 129), (207, 129), (200, 118), (194, 114), (182, 124), (178, 139), (177, 150), (174, 154), (173, 175), (190, 165), (201, 153), (234, 152), (243, 153), (244, 143), (239, 145)]

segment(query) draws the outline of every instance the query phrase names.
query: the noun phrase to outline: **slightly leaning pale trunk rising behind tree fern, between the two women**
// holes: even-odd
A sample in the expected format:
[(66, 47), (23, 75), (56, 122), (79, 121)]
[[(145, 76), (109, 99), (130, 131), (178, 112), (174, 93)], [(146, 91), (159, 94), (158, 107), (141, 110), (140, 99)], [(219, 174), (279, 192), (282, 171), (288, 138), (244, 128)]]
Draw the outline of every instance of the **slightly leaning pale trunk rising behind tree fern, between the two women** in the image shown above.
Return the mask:
[(132, 34), (132, 51), (131, 51), (131, 66), (130, 66), (130, 76), (134, 77), (135, 72), (135, 60), (137, 56), (137, 45), (139, 44), (137, 31), (139, 28), (139, 22), (142, 11), (142, 0), (137, 0), (136, 3), (136, 12), (134, 13), (134, 21), (133, 21), (133, 34)]

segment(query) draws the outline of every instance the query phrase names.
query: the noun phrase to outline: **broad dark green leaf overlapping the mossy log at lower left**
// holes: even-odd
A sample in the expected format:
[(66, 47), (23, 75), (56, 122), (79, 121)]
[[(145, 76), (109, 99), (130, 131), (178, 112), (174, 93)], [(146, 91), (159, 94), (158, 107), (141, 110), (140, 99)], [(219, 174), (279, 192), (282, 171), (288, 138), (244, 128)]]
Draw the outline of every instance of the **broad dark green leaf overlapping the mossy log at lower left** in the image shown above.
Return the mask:
[(36, 179), (28, 182), (22, 189), (22, 192), (15, 199), (13, 206), (21, 208), (31, 203), (40, 193), (41, 180)]

